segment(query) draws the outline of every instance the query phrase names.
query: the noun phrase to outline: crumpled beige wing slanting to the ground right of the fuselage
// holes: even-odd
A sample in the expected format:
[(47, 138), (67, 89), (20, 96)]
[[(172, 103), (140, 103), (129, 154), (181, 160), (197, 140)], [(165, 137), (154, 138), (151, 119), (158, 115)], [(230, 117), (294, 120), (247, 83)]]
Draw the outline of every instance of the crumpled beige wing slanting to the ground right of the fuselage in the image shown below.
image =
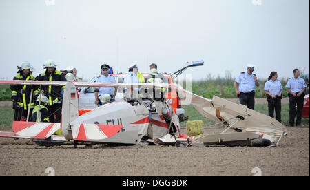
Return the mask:
[(186, 98), (190, 98), (190, 104), (200, 114), (216, 123), (226, 121), (222, 125), (227, 127), (234, 125), (242, 131), (263, 133), (265, 134), (263, 138), (268, 138), (273, 143), (277, 142), (283, 134), (287, 134), (284, 125), (278, 120), (249, 109), (245, 105), (236, 104), (217, 96), (213, 96), (212, 99), (203, 98), (182, 87), (178, 87), (178, 92)]

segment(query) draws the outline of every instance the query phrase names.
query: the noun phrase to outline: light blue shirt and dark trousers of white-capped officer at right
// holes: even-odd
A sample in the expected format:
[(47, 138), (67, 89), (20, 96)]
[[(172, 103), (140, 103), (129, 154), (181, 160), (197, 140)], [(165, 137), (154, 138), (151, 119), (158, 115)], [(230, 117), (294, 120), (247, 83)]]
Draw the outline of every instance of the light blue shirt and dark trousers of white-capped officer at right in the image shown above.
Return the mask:
[(236, 82), (239, 83), (240, 95), (239, 101), (242, 105), (247, 105), (249, 109), (254, 109), (254, 96), (256, 82), (254, 77), (256, 74), (249, 75), (247, 72), (241, 72), (236, 78)]

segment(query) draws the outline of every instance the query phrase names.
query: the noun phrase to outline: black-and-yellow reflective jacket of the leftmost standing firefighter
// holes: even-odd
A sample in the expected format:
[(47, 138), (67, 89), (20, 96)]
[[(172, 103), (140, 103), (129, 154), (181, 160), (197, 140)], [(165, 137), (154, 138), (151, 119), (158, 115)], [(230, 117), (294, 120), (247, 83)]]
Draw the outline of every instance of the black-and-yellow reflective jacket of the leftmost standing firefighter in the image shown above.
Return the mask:
[[(28, 74), (28, 76), (23, 76), (23, 72), (19, 72), (17, 76), (14, 76), (13, 80), (24, 80), (24, 81), (33, 81), (34, 76)], [(10, 85), (12, 91), (12, 101), (17, 102), (17, 107), (23, 107), (24, 110), (27, 110), (28, 107), (32, 109), (34, 107), (34, 98), (32, 98), (32, 103), (29, 105), (31, 89), (33, 90), (33, 96), (38, 95), (37, 87), (33, 85)]]

